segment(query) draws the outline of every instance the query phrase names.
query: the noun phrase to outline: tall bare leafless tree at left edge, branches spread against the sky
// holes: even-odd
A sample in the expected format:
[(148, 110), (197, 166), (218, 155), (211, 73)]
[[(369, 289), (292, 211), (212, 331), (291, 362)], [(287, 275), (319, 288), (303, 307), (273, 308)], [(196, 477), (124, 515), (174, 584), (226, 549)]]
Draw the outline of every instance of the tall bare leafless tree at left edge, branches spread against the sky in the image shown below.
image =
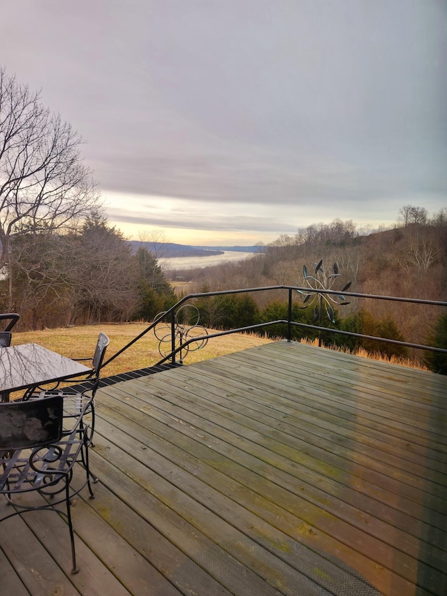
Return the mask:
[(0, 266), (22, 233), (68, 228), (98, 202), (82, 138), (0, 68)]

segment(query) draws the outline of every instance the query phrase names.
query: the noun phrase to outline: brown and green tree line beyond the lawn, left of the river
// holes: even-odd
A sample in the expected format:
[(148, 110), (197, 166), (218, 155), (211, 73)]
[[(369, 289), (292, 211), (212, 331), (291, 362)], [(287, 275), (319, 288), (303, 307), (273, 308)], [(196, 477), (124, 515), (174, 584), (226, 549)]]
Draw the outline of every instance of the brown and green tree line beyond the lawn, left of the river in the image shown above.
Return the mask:
[(0, 305), (12, 293), (21, 328), (151, 320), (175, 301), (173, 287), (145, 247), (132, 251), (98, 213), (78, 230), (29, 233), (13, 240)]

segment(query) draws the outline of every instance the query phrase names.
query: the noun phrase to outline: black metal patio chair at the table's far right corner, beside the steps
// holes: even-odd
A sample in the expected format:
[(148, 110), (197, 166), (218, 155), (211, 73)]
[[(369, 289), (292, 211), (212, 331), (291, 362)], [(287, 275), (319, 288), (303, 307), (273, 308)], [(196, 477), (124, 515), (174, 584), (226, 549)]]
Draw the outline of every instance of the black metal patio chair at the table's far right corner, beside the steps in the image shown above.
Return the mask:
[(75, 391), (70, 387), (43, 389), (41, 391), (34, 391), (31, 396), (26, 396), (24, 399), (35, 400), (36, 398), (48, 398), (55, 395), (61, 395), (64, 398), (64, 418), (77, 419), (80, 412), (85, 412), (84, 416), (89, 422), (89, 444), (94, 433), (95, 412), (94, 412), (94, 397), (98, 389), (99, 378), (101, 374), (101, 366), (105, 356), (105, 350), (108, 347), (110, 340), (105, 333), (100, 333), (93, 358), (74, 358), (77, 361), (91, 361), (93, 370), (89, 375), (82, 380), (83, 388), (80, 391)]

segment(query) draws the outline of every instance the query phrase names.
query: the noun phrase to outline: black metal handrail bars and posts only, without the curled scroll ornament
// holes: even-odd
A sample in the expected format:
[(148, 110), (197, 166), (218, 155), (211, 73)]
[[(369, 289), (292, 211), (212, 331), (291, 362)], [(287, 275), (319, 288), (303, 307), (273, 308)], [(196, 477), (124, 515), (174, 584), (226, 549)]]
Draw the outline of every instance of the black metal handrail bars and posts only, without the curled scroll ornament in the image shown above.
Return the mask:
[[(268, 321), (268, 322), (263, 322), (260, 324), (249, 325), (247, 327), (239, 327), (239, 328), (235, 328), (235, 329), (222, 330), (222, 331), (218, 331), (215, 333), (210, 333), (208, 335), (193, 337), (190, 340), (186, 340), (186, 342), (182, 342), (182, 344), (179, 347), (175, 347), (175, 312), (179, 309), (179, 307), (181, 307), (185, 303), (189, 302), (189, 300), (194, 300), (196, 298), (212, 297), (212, 296), (226, 296), (228, 294), (253, 293), (253, 292), (261, 292), (261, 291), (277, 291), (277, 290), (287, 290), (288, 291), (288, 319), (278, 319), (276, 321)], [(172, 349), (171, 349), (170, 354), (168, 354), (167, 356), (162, 358), (161, 361), (157, 362), (155, 365), (163, 364), (169, 360), (173, 364), (175, 364), (175, 361), (176, 361), (175, 356), (180, 351), (182, 351), (182, 349), (186, 348), (187, 346), (189, 346), (189, 344), (191, 344), (193, 342), (200, 342), (205, 339), (212, 339), (213, 337), (221, 337), (222, 335), (230, 335), (232, 333), (246, 333), (247, 331), (254, 331), (254, 330), (257, 330), (260, 328), (265, 328), (265, 327), (277, 325), (277, 324), (286, 324), (287, 325), (286, 339), (288, 342), (292, 341), (292, 339), (291, 339), (292, 327), (298, 326), (298, 327), (302, 327), (302, 328), (318, 330), (320, 332), (326, 331), (326, 332), (330, 332), (330, 333), (337, 333), (339, 335), (349, 335), (351, 337), (359, 337), (361, 339), (366, 339), (366, 340), (376, 340), (376, 341), (384, 342), (384, 343), (402, 345), (404, 347), (423, 349), (426, 351), (435, 351), (435, 352), (440, 352), (441, 354), (447, 354), (447, 349), (438, 348), (438, 347), (434, 347), (434, 346), (415, 344), (415, 343), (411, 343), (411, 342), (402, 342), (400, 340), (390, 340), (386, 337), (376, 337), (374, 335), (364, 335), (362, 333), (354, 333), (353, 331), (344, 331), (341, 329), (309, 325), (309, 324), (305, 324), (305, 323), (298, 323), (297, 321), (292, 321), (291, 320), (292, 319), (292, 300), (293, 300), (294, 291), (307, 292), (307, 291), (309, 291), (309, 288), (302, 287), (302, 286), (279, 285), (279, 286), (265, 286), (265, 287), (243, 288), (243, 289), (233, 289), (233, 290), (220, 290), (220, 291), (213, 291), (213, 292), (198, 292), (198, 293), (192, 293), (192, 294), (188, 294), (187, 296), (184, 296), (175, 305), (173, 305), (172, 307), (170, 307), (170, 309), (168, 309), (166, 312), (163, 313), (163, 318), (170, 319), (171, 337), (172, 337), (171, 348)], [(340, 293), (341, 293), (339, 290), (330, 290), (330, 289), (312, 289), (312, 291), (314, 293), (319, 293), (319, 294), (325, 293), (325, 294), (340, 295)], [(447, 307), (447, 302), (441, 302), (439, 300), (425, 300), (423, 298), (402, 298), (401, 296), (382, 296), (380, 294), (366, 294), (366, 293), (361, 293), (361, 292), (343, 292), (343, 296), (346, 296), (349, 298), (372, 298), (374, 300), (390, 300), (390, 301), (394, 301), (394, 302), (404, 302), (404, 303), (410, 303), (410, 304), (422, 304), (422, 305), (433, 305), (433, 306)], [(141, 337), (144, 337), (144, 335), (146, 335), (147, 333), (149, 333), (149, 331), (154, 329), (154, 327), (156, 326), (156, 324), (159, 323), (159, 321), (160, 321), (160, 319), (152, 321), (152, 324), (150, 324), (145, 330), (143, 330), (139, 335), (134, 337), (133, 340), (131, 340), (124, 347), (122, 347), (122, 349), (119, 349), (119, 351), (117, 351), (116, 354), (113, 354), (108, 359), (108, 361), (106, 361), (103, 364), (103, 367), (105, 367), (110, 362), (115, 360), (115, 358), (117, 358), (120, 354), (122, 354), (124, 351), (126, 351), (126, 349), (129, 349), (129, 347), (131, 347), (135, 342), (140, 340)]]

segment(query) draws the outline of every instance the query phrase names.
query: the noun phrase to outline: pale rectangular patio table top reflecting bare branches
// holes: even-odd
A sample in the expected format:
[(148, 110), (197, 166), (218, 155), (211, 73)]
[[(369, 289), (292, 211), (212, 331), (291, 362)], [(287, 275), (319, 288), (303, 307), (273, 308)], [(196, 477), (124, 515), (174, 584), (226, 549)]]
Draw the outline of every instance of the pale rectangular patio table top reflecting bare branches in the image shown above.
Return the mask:
[(38, 344), (0, 348), (0, 395), (64, 381), (91, 372), (91, 368)]

